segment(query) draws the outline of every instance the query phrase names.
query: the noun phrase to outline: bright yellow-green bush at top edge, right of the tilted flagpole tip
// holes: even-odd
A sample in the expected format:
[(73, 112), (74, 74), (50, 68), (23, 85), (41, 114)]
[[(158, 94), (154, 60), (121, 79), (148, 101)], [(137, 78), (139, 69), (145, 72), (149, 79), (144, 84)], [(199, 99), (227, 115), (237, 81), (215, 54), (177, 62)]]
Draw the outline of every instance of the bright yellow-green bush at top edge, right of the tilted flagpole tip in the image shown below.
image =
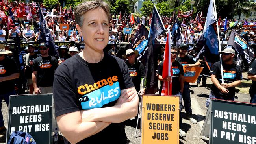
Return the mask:
[(160, 16), (171, 16), (173, 9), (170, 7), (170, 1), (162, 1), (161, 3), (156, 4), (156, 8)]

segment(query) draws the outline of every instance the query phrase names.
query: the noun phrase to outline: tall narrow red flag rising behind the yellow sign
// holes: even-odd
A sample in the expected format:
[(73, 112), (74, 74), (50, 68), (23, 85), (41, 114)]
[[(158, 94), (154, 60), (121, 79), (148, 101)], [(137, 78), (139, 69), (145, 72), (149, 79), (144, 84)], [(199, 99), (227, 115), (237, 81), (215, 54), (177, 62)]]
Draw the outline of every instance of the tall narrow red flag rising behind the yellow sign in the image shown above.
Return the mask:
[[(165, 56), (163, 58), (163, 73), (162, 77), (165, 79), (167, 76), (171, 76), (171, 81), (163, 81), (163, 89), (161, 95), (171, 96), (172, 95), (172, 62), (171, 62), (171, 33), (170, 30), (167, 34), (167, 41), (165, 44)], [(168, 88), (169, 85), (169, 88)], [(168, 93), (169, 91), (169, 93)]]

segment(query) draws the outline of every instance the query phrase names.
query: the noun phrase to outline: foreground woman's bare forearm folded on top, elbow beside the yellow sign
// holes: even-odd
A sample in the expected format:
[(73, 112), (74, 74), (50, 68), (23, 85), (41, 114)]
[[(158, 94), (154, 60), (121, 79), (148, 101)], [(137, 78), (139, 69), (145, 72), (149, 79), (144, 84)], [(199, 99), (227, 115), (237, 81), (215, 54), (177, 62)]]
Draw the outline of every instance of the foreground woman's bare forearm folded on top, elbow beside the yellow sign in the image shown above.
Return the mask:
[(134, 87), (121, 90), (121, 96), (113, 107), (81, 111), (83, 122), (120, 123), (137, 115), (139, 97)]

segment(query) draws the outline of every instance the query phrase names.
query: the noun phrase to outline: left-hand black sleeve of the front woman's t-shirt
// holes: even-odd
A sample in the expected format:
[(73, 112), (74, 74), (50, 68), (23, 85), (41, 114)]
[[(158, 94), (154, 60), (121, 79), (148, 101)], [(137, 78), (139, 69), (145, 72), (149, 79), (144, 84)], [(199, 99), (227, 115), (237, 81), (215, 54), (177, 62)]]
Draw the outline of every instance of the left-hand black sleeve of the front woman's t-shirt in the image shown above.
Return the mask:
[(53, 83), (55, 116), (79, 111), (76, 89), (66, 65), (62, 64), (58, 67)]

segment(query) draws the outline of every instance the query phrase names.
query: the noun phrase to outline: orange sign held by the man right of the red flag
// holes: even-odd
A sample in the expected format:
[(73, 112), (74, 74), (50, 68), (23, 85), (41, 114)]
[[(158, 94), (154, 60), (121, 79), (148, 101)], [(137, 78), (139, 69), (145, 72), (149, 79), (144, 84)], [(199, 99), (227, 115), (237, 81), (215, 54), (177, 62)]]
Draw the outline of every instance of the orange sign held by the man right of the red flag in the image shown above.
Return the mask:
[(189, 82), (189, 83), (195, 83), (198, 76), (202, 72), (203, 67), (200, 67), (200, 66), (195, 66), (195, 67), (191, 67), (191, 68), (186, 68), (186, 67), (187, 67), (187, 65), (183, 66), (185, 81)]

